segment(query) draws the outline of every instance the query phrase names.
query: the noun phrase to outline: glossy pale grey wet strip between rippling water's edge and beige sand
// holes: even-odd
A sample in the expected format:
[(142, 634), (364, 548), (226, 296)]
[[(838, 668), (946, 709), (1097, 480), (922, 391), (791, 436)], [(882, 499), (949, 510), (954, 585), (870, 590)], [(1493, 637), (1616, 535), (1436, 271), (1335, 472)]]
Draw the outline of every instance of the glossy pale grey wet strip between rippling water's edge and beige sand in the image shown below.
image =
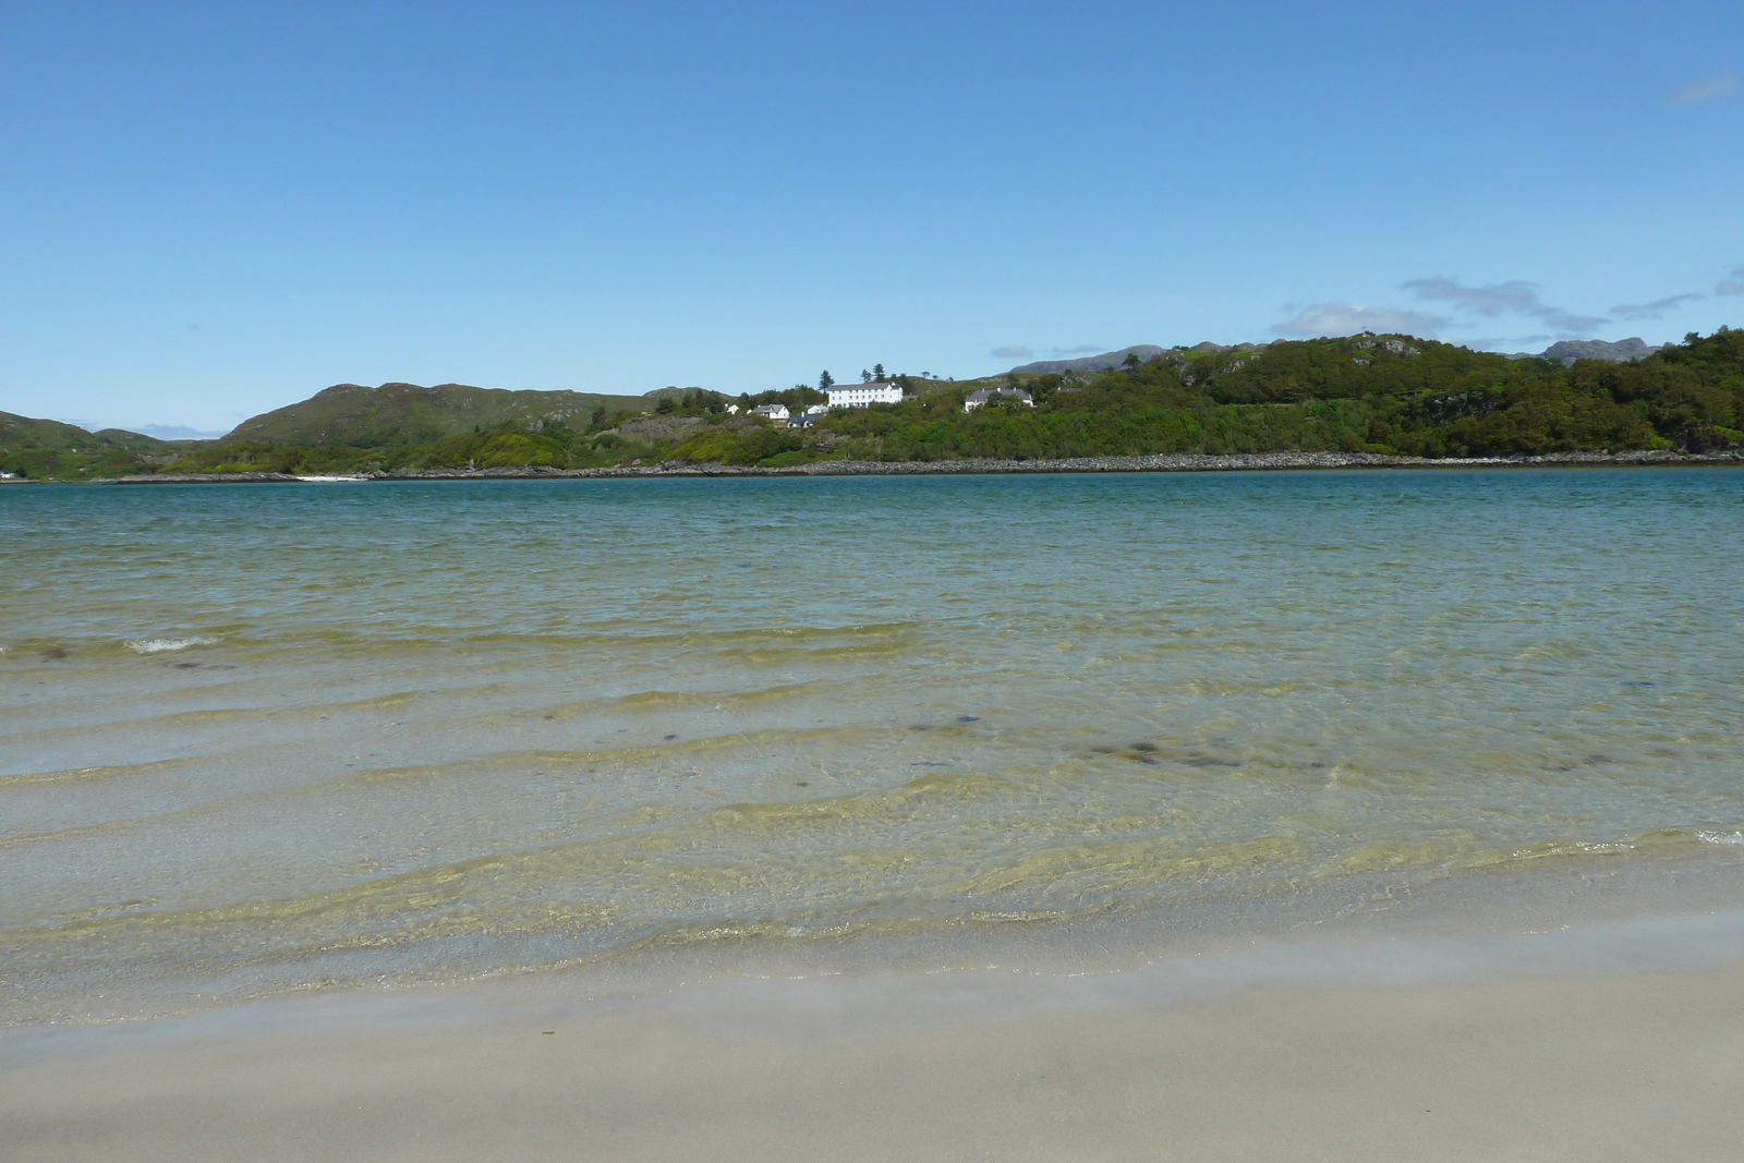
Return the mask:
[[(272, 997), (185, 1017), (108, 1025), (0, 1029), (0, 1069), (45, 1053), (89, 1053), (157, 1039), (258, 1036), (288, 1029), (467, 1025), (537, 1013), (654, 1008), (719, 1037), (844, 1043), (916, 1029), (989, 1025), (1059, 1010), (1165, 1010), (1254, 989), (1409, 987), (1503, 976), (1598, 976), (1700, 969), (1744, 961), (1744, 910), (1646, 917), (1516, 936), (1413, 938), (1327, 945), (1257, 945), (1163, 961), (1144, 969), (1045, 976), (952, 969), (882, 978), (712, 978), (642, 1001), (508, 1001), (464, 987)], [(563, 990), (556, 990), (562, 994)]]

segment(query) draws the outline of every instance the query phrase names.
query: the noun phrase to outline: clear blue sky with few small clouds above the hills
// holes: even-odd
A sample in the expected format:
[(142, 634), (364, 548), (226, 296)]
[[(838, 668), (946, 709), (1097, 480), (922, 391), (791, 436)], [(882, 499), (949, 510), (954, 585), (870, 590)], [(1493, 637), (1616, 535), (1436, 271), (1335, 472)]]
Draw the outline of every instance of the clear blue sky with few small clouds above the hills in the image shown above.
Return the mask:
[(0, 410), (1744, 324), (1744, 5), (0, 7)]

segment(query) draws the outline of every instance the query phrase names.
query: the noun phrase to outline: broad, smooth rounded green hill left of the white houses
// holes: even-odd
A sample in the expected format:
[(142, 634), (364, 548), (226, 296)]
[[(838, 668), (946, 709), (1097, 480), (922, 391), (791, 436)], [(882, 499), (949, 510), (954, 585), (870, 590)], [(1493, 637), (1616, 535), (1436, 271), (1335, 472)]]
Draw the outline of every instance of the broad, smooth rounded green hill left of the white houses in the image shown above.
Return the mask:
[(642, 396), (593, 392), (511, 392), (466, 384), (335, 384), (305, 401), (242, 420), (223, 443), (391, 448), (495, 427), (542, 431), (546, 425), (586, 425), (600, 411), (649, 411), (652, 406)]

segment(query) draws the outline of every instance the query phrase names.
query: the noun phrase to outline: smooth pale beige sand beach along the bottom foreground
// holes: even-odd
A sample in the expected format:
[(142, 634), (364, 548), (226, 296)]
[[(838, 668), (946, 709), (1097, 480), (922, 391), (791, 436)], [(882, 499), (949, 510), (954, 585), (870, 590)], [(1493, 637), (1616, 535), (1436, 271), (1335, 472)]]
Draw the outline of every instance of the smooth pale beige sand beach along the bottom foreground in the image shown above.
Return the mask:
[(0, 1158), (1744, 1158), (1739, 962), (841, 1039), (645, 1004), (66, 1034), (0, 1043)]

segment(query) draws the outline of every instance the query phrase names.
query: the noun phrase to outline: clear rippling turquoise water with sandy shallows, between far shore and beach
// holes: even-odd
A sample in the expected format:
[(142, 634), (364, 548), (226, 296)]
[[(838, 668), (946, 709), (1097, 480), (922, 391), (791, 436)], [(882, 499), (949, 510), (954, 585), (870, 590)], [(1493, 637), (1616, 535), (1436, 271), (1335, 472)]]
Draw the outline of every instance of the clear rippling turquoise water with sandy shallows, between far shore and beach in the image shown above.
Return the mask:
[(5, 1022), (1744, 851), (1735, 469), (9, 486), (0, 544)]

